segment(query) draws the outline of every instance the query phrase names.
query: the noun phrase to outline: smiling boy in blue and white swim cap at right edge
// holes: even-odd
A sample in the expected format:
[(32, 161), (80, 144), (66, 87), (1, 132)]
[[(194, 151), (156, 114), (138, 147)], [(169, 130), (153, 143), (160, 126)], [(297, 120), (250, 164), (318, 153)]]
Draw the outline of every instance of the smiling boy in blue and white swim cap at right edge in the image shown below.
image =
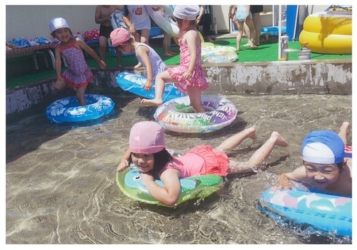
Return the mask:
[(329, 130), (310, 132), (302, 142), (303, 166), (278, 177), (273, 188), (292, 188), (289, 180), (310, 184), (322, 191), (339, 194), (352, 193), (352, 155), (345, 152), (349, 123), (344, 122), (340, 133)]

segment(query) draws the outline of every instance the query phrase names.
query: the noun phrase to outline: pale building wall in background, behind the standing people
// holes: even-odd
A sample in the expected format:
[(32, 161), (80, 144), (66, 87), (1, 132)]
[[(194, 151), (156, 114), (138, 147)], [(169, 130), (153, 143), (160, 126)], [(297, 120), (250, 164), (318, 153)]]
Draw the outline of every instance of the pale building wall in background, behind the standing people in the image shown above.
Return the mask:
[[(278, 6), (266, 5), (262, 13), (262, 24), (273, 25), (273, 9), (277, 12)], [(328, 6), (307, 6), (309, 13), (324, 11)], [(283, 9), (285, 6), (283, 6)], [(228, 19), (229, 5), (212, 6), (213, 22), (217, 23), (217, 30), (220, 32), (229, 31)], [(13, 38), (37, 38), (42, 36), (52, 39), (48, 24), (50, 19), (55, 17), (65, 18), (73, 33), (84, 33), (86, 30), (99, 28), (94, 21), (96, 5), (6, 5), (6, 41)], [(276, 17), (276, 16), (275, 16)]]

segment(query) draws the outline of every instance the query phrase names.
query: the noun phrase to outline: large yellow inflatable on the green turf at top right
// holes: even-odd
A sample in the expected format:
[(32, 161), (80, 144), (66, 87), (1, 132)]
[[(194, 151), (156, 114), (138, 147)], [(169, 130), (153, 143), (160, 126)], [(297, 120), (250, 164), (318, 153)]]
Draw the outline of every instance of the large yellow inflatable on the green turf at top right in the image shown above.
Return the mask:
[(324, 11), (307, 16), (299, 42), (322, 54), (352, 54), (351, 12)]

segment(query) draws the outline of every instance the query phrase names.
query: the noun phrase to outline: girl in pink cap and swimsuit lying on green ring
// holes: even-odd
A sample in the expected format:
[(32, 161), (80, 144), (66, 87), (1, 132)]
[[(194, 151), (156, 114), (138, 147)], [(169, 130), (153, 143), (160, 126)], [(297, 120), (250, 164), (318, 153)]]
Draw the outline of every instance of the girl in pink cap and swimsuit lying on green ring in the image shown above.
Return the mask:
[[(226, 176), (251, 173), (259, 169), (275, 146), (289, 145), (278, 132), (273, 132), (248, 161), (229, 159), (225, 152), (237, 147), (246, 138), (256, 139), (254, 127), (229, 137), (215, 149), (209, 145), (201, 145), (181, 157), (171, 157), (165, 148), (164, 130), (158, 123), (136, 123), (130, 130), (129, 148), (123, 155), (117, 171), (123, 171), (130, 164), (135, 164), (142, 171), (141, 180), (149, 193), (160, 202), (174, 206), (181, 193), (180, 178), (205, 174)], [(155, 183), (155, 178), (164, 182), (164, 186)]]

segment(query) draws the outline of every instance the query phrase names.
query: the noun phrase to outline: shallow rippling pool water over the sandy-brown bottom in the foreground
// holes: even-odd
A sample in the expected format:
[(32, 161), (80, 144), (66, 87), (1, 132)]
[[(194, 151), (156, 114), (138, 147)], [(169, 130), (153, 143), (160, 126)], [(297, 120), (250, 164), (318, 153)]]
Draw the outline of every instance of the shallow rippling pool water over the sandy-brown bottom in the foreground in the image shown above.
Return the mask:
[[(130, 127), (152, 120), (140, 98), (115, 101), (106, 118), (50, 123), (45, 113), (6, 126), (6, 244), (351, 244), (351, 239), (301, 236), (256, 208), (276, 174), (300, 166), (300, 145), (311, 130), (352, 125), (352, 96), (226, 96), (238, 109), (234, 122), (214, 133), (166, 133), (166, 144), (184, 152), (217, 146), (255, 126), (257, 140), (229, 152), (247, 160), (278, 131), (290, 143), (276, 147), (267, 169), (227, 176), (217, 193), (196, 204), (164, 208), (131, 200), (115, 183)], [(45, 110), (45, 108), (44, 108)], [(348, 138), (351, 144), (351, 135)]]

